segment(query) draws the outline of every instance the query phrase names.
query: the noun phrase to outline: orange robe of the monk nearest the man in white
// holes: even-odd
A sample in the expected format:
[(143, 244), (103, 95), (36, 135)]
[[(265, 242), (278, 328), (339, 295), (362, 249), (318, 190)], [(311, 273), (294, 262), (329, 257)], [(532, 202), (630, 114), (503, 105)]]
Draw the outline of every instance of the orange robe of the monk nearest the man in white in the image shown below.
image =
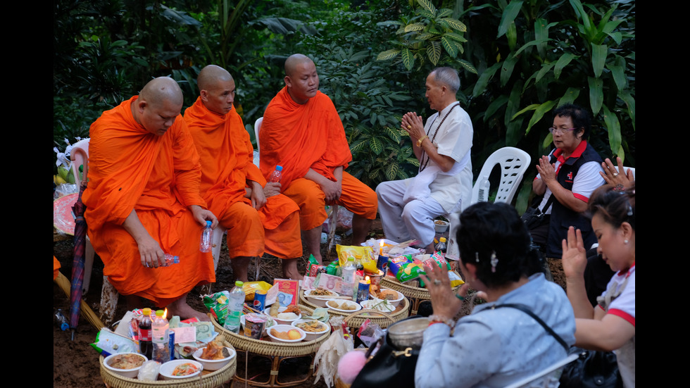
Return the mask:
[[(325, 194), (304, 175), (311, 168), (335, 181), (337, 167), (352, 161), (343, 123), (328, 96), (317, 92), (306, 104), (297, 104), (284, 87), (272, 99), (263, 115), (261, 133), (261, 173), (268, 176), (282, 165), (282, 193), (300, 208), (302, 230), (311, 230), (326, 219)], [(373, 220), (376, 218), (375, 192), (343, 172), (342, 194), (336, 204)]]

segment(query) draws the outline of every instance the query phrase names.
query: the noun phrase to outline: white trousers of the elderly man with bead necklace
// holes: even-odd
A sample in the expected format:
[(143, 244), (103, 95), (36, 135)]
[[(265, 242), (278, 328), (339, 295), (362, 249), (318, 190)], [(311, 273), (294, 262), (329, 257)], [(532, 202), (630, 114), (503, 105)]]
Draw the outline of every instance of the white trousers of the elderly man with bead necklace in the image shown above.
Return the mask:
[(391, 180), (376, 187), (379, 215), (387, 239), (394, 242), (416, 239), (420, 246), (427, 246), (434, 242), (436, 236), (434, 218), (446, 214), (446, 211), (431, 196), (405, 203), (403, 196), (413, 179)]

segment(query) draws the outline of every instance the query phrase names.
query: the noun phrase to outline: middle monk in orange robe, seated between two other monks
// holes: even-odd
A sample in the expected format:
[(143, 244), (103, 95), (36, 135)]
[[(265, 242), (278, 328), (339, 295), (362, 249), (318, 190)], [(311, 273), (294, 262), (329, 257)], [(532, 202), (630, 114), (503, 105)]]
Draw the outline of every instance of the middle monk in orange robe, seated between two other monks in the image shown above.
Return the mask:
[(283, 259), (284, 277), (299, 279), (299, 208), (280, 194), (280, 183), (267, 183), (253, 164), (249, 133), (232, 107), (232, 76), (208, 65), (197, 85), (200, 96), (184, 111), (184, 120), (201, 158), (201, 195), (227, 229), (234, 275), (246, 282), (250, 258), (266, 251)]

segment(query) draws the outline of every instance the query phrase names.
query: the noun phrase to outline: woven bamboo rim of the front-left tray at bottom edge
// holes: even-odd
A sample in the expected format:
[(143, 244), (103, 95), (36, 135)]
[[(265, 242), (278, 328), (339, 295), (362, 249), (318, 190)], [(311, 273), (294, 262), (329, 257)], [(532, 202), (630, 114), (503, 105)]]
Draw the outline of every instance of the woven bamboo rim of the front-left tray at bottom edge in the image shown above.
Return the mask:
[[(224, 345), (231, 348), (233, 347), (232, 344), (227, 341)], [(199, 377), (184, 380), (140, 381), (115, 375), (115, 373), (111, 372), (111, 370), (108, 370), (103, 365), (103, 360), (105, 360), (105, 358), (101, 356), (101, 378), (106, 384), (106, 387), (113, 388), (215, 388), (232, 380), (232, 376), (234, 376), (237, 370), (237, 354), (235, 354), (232, 360), (224, 367), (208, 373), (202, 371)]]

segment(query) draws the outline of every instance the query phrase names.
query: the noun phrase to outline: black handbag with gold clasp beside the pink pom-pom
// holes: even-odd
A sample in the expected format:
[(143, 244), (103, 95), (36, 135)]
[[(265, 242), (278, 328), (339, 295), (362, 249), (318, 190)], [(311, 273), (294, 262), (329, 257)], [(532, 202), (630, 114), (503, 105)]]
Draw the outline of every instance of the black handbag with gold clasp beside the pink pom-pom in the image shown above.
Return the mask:
[[(415, 386), (415, 367), (419, 350), (398, 350), (391, 345), (388, 333), (379, 339), (381, 347), (352, 382), (351, 388), (404, 388)], [(375, 349), (376, 344), (370, 346)], [(367, 354), (367, 357), (369, 354)]]

